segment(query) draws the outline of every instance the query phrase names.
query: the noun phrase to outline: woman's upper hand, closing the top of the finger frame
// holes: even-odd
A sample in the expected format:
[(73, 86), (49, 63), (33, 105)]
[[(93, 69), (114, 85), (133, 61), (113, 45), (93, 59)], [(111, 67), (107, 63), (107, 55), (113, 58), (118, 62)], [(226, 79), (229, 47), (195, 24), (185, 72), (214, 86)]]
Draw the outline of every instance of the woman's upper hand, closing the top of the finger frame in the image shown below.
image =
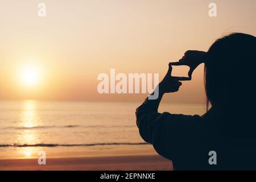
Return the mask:
[(204, 63), (205, 54), (206, 52), (204, 51), (187, 51), (178, 62), (170, 63), (169, 65), (187, 65), (190, 68), (188, 72), (188, 77), (192, 78), (193, 71), (201, 63)]

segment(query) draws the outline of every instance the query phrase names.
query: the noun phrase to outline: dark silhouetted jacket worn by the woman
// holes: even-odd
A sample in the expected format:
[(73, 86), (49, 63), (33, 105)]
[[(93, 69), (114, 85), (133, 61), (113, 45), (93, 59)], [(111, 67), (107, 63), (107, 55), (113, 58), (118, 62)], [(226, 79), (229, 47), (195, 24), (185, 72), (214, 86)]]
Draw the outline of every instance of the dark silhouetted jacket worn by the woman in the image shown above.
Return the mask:
[[(201, 117), (158, 113), (158, 104), (147, 99), (136, 117), (141, 137), (172, 160), (175, 170), (256, 169), (255, 139), (236, 122), (224, 124), (223, 110), (213, 108)], [(216, 152), (216, 165), (209, 163), (210, 151)]]

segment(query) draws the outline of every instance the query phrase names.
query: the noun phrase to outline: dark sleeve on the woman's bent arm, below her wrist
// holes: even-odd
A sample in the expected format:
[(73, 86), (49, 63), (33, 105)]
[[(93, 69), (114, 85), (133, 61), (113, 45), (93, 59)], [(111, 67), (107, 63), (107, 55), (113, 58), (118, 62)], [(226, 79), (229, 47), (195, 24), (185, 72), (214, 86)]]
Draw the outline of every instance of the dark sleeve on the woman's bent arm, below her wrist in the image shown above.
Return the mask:
[[(158, 105), (146, 100), (136, 110), (137, 126), (141, 137), (151, 143), (158, 154), (172, 159), (175, 143), (183, 142), (188, 131), (196, 127), (199, 115), (158, 113)], [(189, 138), (187, 138), (189, 140)]]

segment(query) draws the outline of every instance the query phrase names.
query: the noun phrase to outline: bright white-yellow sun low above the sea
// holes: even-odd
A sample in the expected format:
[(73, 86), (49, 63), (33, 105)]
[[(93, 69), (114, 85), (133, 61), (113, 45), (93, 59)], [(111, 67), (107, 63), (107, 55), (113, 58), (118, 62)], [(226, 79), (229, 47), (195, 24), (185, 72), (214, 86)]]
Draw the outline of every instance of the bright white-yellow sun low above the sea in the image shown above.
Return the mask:
[(22, 68), (20, 79), (25, 86), (35, 86), (40, 81), (40, 69), (33, 65)]

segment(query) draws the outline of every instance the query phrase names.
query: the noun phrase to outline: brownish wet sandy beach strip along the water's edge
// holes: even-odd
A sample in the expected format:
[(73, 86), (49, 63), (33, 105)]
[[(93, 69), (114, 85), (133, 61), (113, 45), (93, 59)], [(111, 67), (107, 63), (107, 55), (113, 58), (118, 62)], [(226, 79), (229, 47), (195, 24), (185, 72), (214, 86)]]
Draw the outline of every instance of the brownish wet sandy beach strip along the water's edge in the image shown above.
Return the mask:
[(105, 156), (85, 158), (51, 158), (46, 165), (39, 165), (38, 159), (2, 159), (1, 171), (55, 171), (55, 170), (172, 170), (169, 160), (159, 155)]

